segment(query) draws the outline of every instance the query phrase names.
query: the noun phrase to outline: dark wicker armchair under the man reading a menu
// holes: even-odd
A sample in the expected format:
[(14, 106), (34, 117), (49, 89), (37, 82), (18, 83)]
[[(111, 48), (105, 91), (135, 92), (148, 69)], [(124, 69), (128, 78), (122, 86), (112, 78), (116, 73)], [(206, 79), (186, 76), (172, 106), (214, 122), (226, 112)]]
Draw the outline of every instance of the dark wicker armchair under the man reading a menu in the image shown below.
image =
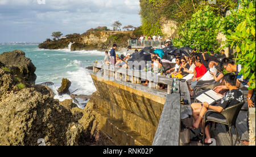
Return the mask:
[[(215, 122), (215, 123), (221, 123), (224, 124), (226, 126), (228, 126), (229, 128), (229, 135), (231, 138), (231, 145), (233, 146), (233, 138), (232, 138), (232, 133), (231, 133), (231, 129), (232, 126), (234, 126), (234, 129), (236, 131), (236, 135), (237, 135), (237, 142), (238, 144), (240, 143), (239, 139), (238, 139), (238, 133), (237, 133), (237, 127), (236, 127), (236, 121), (237, 121), (237, 117), (238, 114), (240, 113), (240, 110), (243, 106), (243, 104), (245, 104), (245, 102), (240, 102), (237, 105), (231, 106), (229, 108), (226, 108), (224, 110), (222, 110), (221, 113), (218, 113), (217, 111), (214, 110), (208, 110), (205, 115), (204, 115), (204, 127), (203, 127), (203, 131), (204, 131), (204, 135), (203, 135), (203, 144), (205, 143), (205, 126), (207, 125), (208, 122)], [(215, 117), (210, 117), (210, 115), (208, 116), (209, 113), (217, 113), (217, 114), (221, 114), (223, 115), (226, 119), (218, 119)]]

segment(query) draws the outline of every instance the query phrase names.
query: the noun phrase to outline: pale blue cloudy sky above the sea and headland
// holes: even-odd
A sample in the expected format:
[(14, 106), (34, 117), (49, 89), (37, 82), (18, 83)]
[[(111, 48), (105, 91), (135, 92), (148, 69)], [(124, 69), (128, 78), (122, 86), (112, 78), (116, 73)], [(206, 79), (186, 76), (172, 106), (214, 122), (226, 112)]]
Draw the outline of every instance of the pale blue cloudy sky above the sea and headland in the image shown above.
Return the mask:
[(43, 42), (119, 20), (141, 26), (139, 0), (0, 0), (0, 43)]

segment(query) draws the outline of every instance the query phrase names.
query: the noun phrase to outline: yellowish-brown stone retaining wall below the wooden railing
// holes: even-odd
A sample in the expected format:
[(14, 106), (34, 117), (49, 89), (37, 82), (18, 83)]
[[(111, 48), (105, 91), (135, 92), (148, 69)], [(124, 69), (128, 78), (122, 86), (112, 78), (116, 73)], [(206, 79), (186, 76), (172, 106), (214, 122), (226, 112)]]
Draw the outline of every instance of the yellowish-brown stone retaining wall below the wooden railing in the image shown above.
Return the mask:
[(117, 145), (151, 145), (166, 99), (94, 75), (92, 79), (97, 94), (88, 103), (96, 111), (97, 129)]

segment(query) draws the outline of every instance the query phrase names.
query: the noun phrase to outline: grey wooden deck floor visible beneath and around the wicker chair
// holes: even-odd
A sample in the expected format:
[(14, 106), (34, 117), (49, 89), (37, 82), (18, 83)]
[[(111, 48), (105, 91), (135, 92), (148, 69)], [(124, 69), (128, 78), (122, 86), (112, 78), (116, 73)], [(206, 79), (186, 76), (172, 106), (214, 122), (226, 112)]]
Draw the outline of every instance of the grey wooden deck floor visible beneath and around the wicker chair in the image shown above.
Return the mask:
[[(249, 139), (249, 135), (247, 132), (247, 125), (246, 125), (246, 118), (247, 118), (247, 111), (241, 110), (240, 114), (238, 115), (237, 118), (237, 131), (238, 131), (238, 139), (245, 140)], [(196, 133), (199, 133), (199, 129), (196, 130)], [(191, 133), (191, 138), (195, 136)], [(238, 144), (237, 143), (237, 138), (236, 138), (236, 132), (234, 131), (234, 128), (232, 129), (232, 137), (233, 137), (233, 142), (235, 146), (244, 146), (242, 143)], [(216, 127), (216, 130), (214, 130), (214, 125), (213, 125), (213, 135), (212, 138), (216, 139), (216, 144), (217, 146), (230, 146), (230, 136), (228, 131), (226, 131), (225, 125), (218, 124)], [(201, 143), (199, 142), (191, 142), (188, 144), (188, 146), (202, 146)]]

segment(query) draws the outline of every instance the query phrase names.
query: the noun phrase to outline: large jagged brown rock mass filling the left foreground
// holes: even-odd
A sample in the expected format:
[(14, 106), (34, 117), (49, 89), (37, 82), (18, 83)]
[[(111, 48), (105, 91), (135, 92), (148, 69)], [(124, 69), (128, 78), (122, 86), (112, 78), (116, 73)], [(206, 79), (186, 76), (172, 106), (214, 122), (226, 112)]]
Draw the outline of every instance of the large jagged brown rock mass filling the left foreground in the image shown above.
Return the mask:
[(91, 133), (90, 105), (82, 110), (73, 108), (72, 100), (54, 100), (47, 86), (31, 83), (34, 72), (24, 52), (0, 55), (0, 145), (34, 146), (39, 139), (53, 146), (110, 144)]

